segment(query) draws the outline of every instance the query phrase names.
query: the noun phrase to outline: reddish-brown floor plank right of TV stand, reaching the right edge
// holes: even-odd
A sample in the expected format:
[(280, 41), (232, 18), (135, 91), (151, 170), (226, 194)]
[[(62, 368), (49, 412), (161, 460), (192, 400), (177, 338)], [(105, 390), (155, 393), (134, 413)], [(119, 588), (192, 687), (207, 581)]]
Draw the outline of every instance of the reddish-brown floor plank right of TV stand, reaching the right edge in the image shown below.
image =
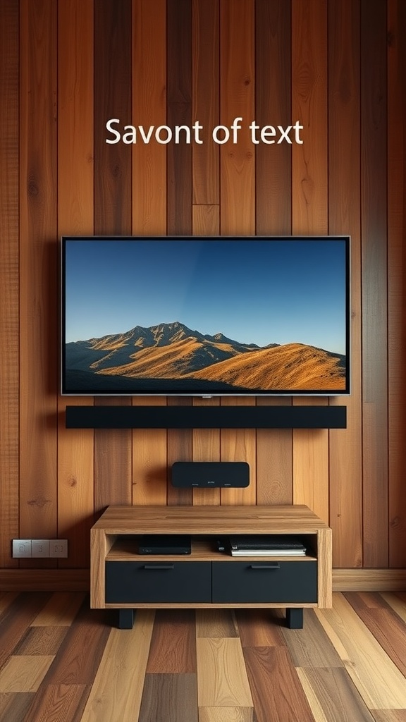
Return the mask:
[(396, 612), (386, 606), (384, 600), (382, 600), (382, 604), (385, 606), (378, 607), (366, 606), (362, 597), (355, 593), (347, 593), (345, 598), (378, 640), (386, 654), (406, 677), (406, 622), (399, 619)]

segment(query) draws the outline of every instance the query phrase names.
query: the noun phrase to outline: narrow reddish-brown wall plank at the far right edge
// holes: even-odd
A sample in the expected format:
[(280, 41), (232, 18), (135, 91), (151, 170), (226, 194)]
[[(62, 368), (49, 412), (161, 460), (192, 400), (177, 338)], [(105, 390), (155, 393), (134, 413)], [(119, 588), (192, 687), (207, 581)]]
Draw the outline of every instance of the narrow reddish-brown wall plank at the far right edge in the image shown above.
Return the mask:
[(406, 5), (388, 2), (389, 565), (406, 566)]

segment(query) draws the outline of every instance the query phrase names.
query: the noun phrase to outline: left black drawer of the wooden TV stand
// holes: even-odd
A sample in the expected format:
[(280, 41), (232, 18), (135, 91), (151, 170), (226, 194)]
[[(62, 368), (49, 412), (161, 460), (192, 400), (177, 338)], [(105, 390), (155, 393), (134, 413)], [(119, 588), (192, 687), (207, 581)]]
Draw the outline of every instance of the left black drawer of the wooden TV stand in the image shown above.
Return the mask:
[(212, 601), (211, 562), (106, 562), (107, 604)]

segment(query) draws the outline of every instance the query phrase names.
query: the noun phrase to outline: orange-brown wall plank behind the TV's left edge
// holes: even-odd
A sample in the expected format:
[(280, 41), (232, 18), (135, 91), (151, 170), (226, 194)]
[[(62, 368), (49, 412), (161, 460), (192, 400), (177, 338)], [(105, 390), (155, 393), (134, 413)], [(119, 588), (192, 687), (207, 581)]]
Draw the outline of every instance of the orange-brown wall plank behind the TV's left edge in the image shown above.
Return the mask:
[[(58, 13), (59, 236), (92, 235), (93, 231), (92, 36), (92, 2), (62, 3)], [(75, 399), (74, 403), (92, 404), (92, 399)], [(59, 399), (58, 534), (68, 539), (69, 559), (59, 560), (59, 566), (88, 567), (93, 523), (93, 432), (66, 430), (65, 406)]]

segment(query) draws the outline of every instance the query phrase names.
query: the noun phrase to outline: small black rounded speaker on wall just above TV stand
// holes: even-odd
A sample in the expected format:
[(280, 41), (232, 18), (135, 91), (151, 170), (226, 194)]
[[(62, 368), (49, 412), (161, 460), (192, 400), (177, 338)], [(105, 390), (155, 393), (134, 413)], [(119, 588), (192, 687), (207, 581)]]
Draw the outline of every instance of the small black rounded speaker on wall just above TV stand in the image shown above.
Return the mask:
[(246, 461), (176, 461), (172, 464), (174, 487), (248, 487)]

